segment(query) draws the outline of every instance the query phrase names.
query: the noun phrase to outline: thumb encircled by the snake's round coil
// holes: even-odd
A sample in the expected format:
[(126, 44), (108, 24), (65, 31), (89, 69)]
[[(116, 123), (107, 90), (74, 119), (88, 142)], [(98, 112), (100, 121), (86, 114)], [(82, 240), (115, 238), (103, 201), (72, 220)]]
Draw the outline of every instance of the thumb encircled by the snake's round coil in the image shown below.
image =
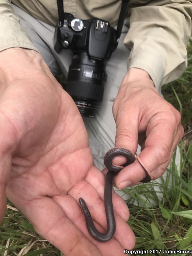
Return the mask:
[[(138, 118), (131, 109), (129, 113), (125, 112), (121, 111), (116, 116), (115, 147), (126, 148), (135, 155), (138, 146)], [(125, 156), (116, 156), (112, 162), (116, 165), (122, 165), (126, 163), (126, 158)]]

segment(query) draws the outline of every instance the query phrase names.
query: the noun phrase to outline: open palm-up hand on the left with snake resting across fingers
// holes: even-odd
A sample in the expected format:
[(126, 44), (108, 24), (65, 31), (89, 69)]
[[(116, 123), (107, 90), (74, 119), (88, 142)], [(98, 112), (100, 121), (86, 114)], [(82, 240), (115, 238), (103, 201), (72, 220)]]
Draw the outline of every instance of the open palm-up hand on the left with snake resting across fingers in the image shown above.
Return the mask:
[(0, 72), (0, 221), (7, 194), (66, 256), (124, 255), (135, 243), (125, 202), (113, 193), (116, 234), (106, 244), (89, 235), (78, 204), (82, 197), (96, 227), (106, 228), (105, 179), (72, 98), (35, 51), (0, 52)]

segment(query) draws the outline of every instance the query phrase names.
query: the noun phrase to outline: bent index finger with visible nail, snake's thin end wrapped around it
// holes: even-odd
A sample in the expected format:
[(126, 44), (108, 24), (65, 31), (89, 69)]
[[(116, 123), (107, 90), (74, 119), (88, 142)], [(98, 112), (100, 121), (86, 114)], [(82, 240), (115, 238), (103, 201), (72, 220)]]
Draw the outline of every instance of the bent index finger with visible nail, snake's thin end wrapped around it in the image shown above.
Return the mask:
[(149, 121), (144, 149), (138, 159), (125, 167), (116, 177), (116, 186), (119, 189), (143, 180), (146, 177), (143, 167), (150, 173), (168, 161), (177, 133), (177, 122), (174, 118), (169, 122), (167, 120), (167, 116), (166, 119), (154, 116)]

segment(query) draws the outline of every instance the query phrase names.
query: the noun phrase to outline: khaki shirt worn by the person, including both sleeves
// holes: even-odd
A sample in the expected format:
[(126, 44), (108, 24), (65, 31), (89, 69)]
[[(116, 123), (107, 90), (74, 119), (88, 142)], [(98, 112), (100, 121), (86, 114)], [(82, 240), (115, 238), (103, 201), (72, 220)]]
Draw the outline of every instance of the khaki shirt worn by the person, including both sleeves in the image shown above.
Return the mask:
[[(38, 20), (56, 25), (56, 0), (13, 0)], [(65, 12), (80, 19), (97, 17), (115, 26), (121, 0), (64, 0)], [(131, 51), (127, 67), (148, 72), (157, 89), (178, 78), (187, 67), (192, 0), (130, 0), (130, 29), (124, 44)], [(11, 47), (36, 50), (13, 13), (11, 1), (0, 0), (0, 51)], [(13, 60), (14, 61), (14, 60)]]

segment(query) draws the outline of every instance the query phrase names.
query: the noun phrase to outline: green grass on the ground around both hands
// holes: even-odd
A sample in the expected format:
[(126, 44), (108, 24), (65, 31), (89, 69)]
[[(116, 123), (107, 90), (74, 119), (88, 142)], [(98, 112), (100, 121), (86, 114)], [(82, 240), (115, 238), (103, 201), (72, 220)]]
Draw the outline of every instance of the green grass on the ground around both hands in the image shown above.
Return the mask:
[[(188, 44), (188, 68), (178, 80), (163, 86), (162, 92), (182, 114), (185, 134), (180, 142), (180, 168), (175, 164), (176, 152), (162, 184), (142, 184), (124, 193), (129, 194), (128, 224), (136, 235), (135, 250), (152, 250), (145, 255), (168, 255), (164, 250), (192, 251), (192, 40)], [(178, 175), (179, 173), (179, 175)], [(172, 186), (169, 182), (172, 182)], [(159, 197), (160, 192), (162, 199)], [(142, 196), (147, 199), (143, 199)], [(155, 202), (156, 207), (151, 204)], [(149, 251), (150, 252), (150, 251)], [(138, 253), (137, 255), (141, 255)], [(2, 256), (63, 256), (39, 236), (32, 225), (7, 199), (7, 212), (0, 228)], [(188, 255), (171, 253), (169, 255)], [(118, 255), (117, 255), (118, 256)]]

